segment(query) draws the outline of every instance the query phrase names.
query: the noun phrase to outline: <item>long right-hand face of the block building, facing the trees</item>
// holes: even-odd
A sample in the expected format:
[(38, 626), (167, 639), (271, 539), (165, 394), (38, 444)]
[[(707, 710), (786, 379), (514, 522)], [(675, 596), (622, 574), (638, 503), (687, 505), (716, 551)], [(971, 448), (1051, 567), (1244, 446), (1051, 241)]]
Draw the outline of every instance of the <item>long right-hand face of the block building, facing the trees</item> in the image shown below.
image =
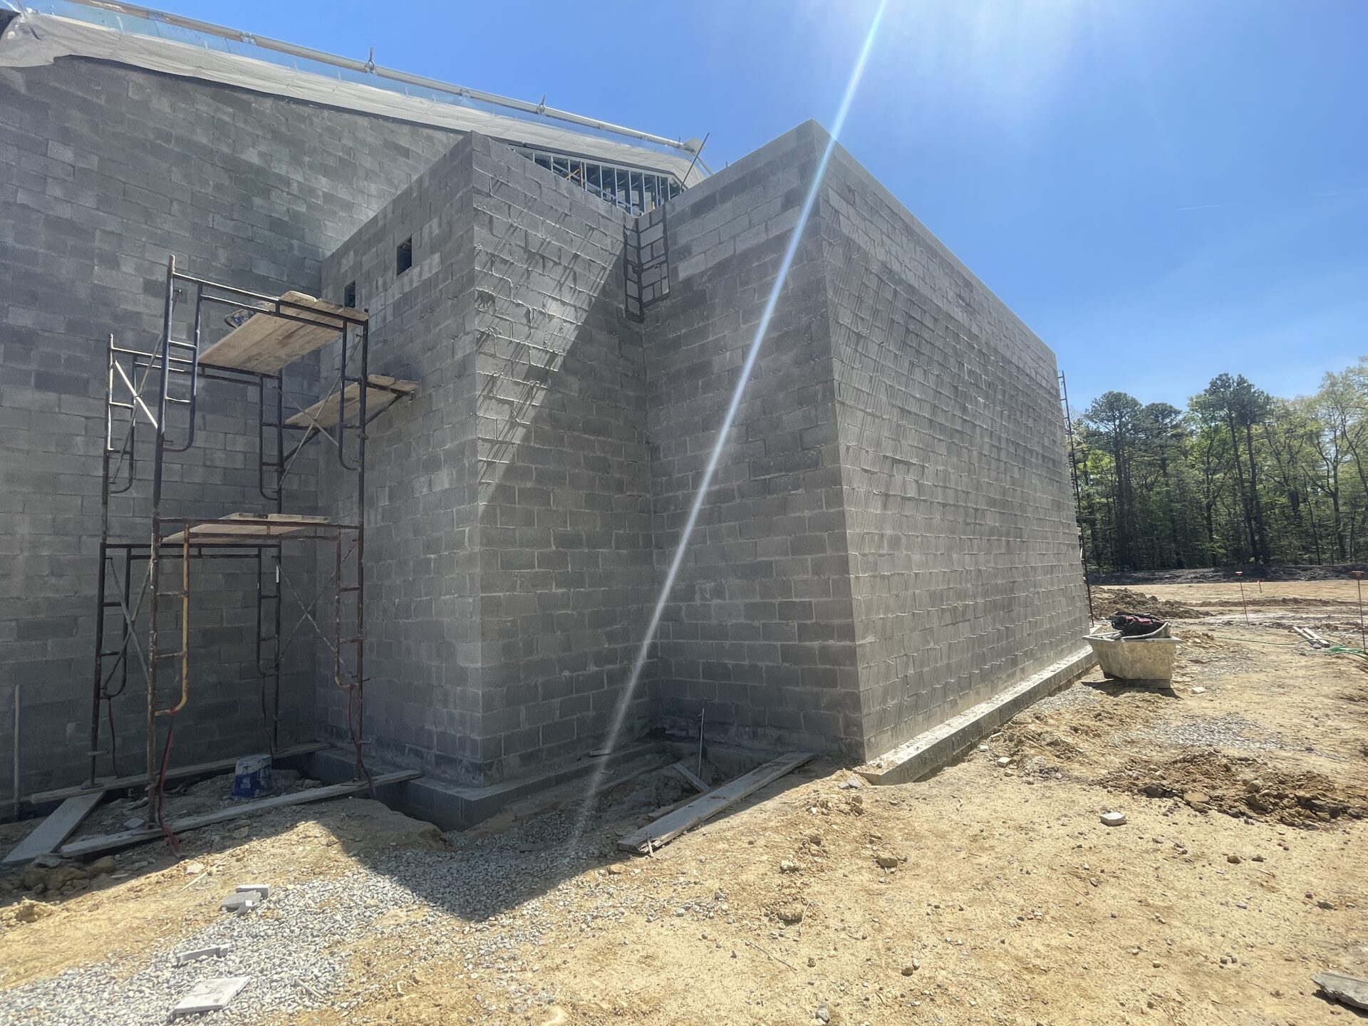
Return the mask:
[(869, 757), (1088, 629), (1053, 353), (844, 149), (822, 253)]

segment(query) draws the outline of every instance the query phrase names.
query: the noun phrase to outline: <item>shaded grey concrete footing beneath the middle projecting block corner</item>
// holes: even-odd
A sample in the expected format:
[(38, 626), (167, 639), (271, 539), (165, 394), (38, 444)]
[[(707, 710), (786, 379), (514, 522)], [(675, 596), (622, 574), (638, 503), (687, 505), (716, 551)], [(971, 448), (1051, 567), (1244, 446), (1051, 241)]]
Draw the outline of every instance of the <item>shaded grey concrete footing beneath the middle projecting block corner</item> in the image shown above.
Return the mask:
[[(659, 755), (666, 751), (666, 746), (647, 741), (628, 746), (611, 755), (587, 758), (535, 776), (480, 788), (446, 784), (424, 776), (378, 788), (376, 798), (390, 808), (436, 824), (443, 830), (458, 830), (488, 819), (510, 802), (586, 777), (599, 766), (618, 766), (643, 755)], [(326, 748), (309, 755), (306, 770), (328, 784), (352, 780), (356, 776), (356, 757), (349, 748)]]

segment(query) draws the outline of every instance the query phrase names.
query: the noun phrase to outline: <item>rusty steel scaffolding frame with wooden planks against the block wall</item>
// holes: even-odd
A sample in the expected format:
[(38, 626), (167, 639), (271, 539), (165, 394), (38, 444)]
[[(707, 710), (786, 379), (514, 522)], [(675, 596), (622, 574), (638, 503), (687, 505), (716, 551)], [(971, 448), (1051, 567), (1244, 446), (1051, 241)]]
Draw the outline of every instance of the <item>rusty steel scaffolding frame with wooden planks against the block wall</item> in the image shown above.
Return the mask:
[[(183, 304), (179, 297), (187, 297)], [(290, 298), (297, 297), (297, 298)], [(298, 300), (298, 301), (297, 301)], [(96, 785), (101, 740), (101, 705), (109, 728), (111, 762), (116, 758), (114, 699), (130, 683), (130, 662), (146, 677), (146, 785), (148, 824), (161, 824), (161, 795), (171, 752), (175, 715), (187, 705), (192, 691), (192, 564), (198, 560), (248, 561), (256, 576), (256, 644), (254, 670), (261, 688), (263, 729), (274, 754), (279, 747), (280, 668), (290, 643), (305, 622), (331, 648), (334, 684), (347, 692), (347, 731), (356, 748), (357, 780), (367, 774), (361, 757), (365, 681), (365, 427), (380, 410), (404, 395), (408, 389), (390, 382), (378, 383), (369, 375), (369, 326), (361, 311), (349, 311), (297, 293), (265, 295), (222, 282), (197, 278), (176, 269), (175, 257), (167, 261), (166, 293), (160, 341), (155, 349), (141, 350), (108, 338), (105, 375), (105, 438), (103, 447), (103, 483), (100, 517), (100, 573), (96, 607), (94, 677), (90, 711), (90, 785)], [(186, 312), (182, 313), (182, 305)], [(264, 331), (297, 330), (290, 324), (309, 326), (309, 347), (290, 354), (275, 353), (278, 367), (261, 367), (260, 358), (201, 361), (205, 350), (205, 319), (212, 311), (230, 308), (235, 323), (271, 319)], [(176, 338), (176, 316), (189, 317), (189, 338)], [(230, 326), (234, 319), (228, 319)], [(335, 334), (331, 334), (335, 332)], [(257, 332), (259, 335), (261, 332)], [(338, 375), (320, 404), (286, 419), (285, 369), (315, 352), (328, 339), (341, 341)], [(211, 349), (213, 349), (211, 346)], [(263, 350), (257, 349), (257, 354)], [(209, 353), (213, 358), (213, 353)], [(186, 453), (196, 443), (196, 413), (200, 382), (215, 380), (254, 387), (257, 391), (257, 490), (263, 509), (227, 517), (175, 517), (163, 509), (166, 458)], [(274, 394), (272, 394), (274, 393)], [(371, 393), (386, 395), (379, 409), (368, 409)], [(321, 409), (337, 404), (335, 423), (324, 424)], [(183, 409), (185, 419), (176, 432), (168, 434), (174, 410)], [(328, 415), (331, 416), (331, 413)], [(135, 492), (140, 482), (137, 435), (140, 424), (149, 425), (150, 454), (150, 536), (146, 542), (112, 536), (111, 499), (134, 492), (133, 518), (140, 518)], [(122, 438), (119, 434), (122, 432)], [(290, 445), (286, 445), (287, 434)], [(298, 517), (283, 513), (285, 482), (304, 447), (316, 438), (328, 438), (337, 447), (338, 464), (354, 477), (354, 523), (326, 517)], [(349, 458), (349, 451), (352, 457)], [(334, 572), (323, 581), (317, 573), (312, 596), (301, 596), (285, 572), (285, 543), (331, 543)], [(163, 572), (179, 560), (176, 584), (167, 587)], [(137, 570), (145, 565), (141, 587), (134, 586)], [(122, 576), (120, 576), (122, 568)], [(313, 609), (327, 588), (332, 590), (334, 614), (331, 639), (319, 624)], [(297, 602), (298, 622), (283, 633), (286, 591)], [(163, 610), (171, 599), (174, 610)], [(144, 609), (144, 603), (145, 609)], [(343, 606), (353, 603), (350, 610)], [(138, 620), (146, 617), (146, 650), (140, 644)], [(107, 620), (112, 618), (112, 625)], [(112, 629), (111, 629), (112, 627)], [(168, 635), (174, 640), (168, 642)], [(107, 647), (108, 644), (108, 647)], [(131, 653), (131, 655), (130, 655)], [(135, 676), (135, 674), (134, 674)], [(170, 681), (163, 681), (168, 676)], [(168, 687), (170, 684), (170, 687)], [(166, 722), (164, 740), (160, 724)], [(160, 748), (160, 758), (159, 758)], [(115, 767), (115, 776), (118, 769)]]

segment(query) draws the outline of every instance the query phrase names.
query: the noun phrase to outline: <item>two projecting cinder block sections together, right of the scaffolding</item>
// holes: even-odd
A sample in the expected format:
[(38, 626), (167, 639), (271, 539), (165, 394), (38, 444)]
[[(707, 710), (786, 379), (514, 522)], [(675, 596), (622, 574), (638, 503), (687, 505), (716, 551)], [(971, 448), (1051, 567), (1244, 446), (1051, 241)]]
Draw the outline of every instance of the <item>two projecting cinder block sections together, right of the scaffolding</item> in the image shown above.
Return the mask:
[[(825, 145), (666, 204), (642, 323), (621, 213), (479, 135), (328, 259), (425, 383), (372, 431), (387, 752), (491, 782), (603, 740)], [(819, 190), (628, 736), (863, 759), (1086, 629), (1052, 354), (844, 150)]]

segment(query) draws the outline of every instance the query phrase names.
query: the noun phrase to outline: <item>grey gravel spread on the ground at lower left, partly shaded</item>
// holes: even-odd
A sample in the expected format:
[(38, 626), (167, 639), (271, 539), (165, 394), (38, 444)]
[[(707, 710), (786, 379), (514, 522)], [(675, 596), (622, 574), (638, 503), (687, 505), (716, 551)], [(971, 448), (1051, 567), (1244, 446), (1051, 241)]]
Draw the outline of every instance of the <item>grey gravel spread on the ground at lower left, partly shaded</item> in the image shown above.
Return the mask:
[[(342, 877), (275, 888), (260, 908), (244, 915), (223, 912), (172, 945), (0, 990), (0, 1022), (166, 1023), (171, 1008), (198, 981), (233, 975), (250, 977), (252, 982), (224, 1011), (194, 1022), (253, 1022), (311, 1008), (345, 1010), (382, 989), (393, 996), (393, 978), (373, 984), (349, 979), (347, 947), (363, 938), (378, 941), (375, 949), (386, 959), (398, 959), (415, 971), (434, 959), (460, 956), (465, 971), (479, 973), (508, 995), (506, 1007), (486, 1010), (521, 1018), (554, 1000), (536, 985), (535, 974), (523, 971), (525, 945), (544, 947), (554, 934), (558, 947), (573, 948), (581, 936), (628, 914), (647, 921), (665, 915), (706, 921), (726, 914), (725, 895), (688, 877), (662, 884), (650, 895), (620, 886), (614, 874), (631, 871), (629, 863), (592, 871), (617, 859), (611, 837), (588, 833), (576, 839), (575, 833), (573, 815), (551, 813), (490, 837), (449, 834), (454, 851), (397, 851)], [(220, 874), (211, 885), (226, 896), (234, 885), (248, 882), (257, 881)], [(436, 915), (425, 918), (424, 911)], [(219, 944), (230, 947), (224, 958), (172, 964), (178, 951)]]

